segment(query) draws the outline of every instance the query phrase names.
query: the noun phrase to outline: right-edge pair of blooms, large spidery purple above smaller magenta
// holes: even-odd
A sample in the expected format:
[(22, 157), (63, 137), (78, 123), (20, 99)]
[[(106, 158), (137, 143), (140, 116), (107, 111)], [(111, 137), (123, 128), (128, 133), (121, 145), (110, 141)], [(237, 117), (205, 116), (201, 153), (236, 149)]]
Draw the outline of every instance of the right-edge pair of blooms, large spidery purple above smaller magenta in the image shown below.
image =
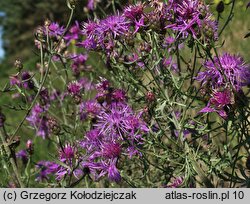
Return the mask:
[(217, 112), (227, 118), (227, 111), (235, 103), (235, 94), (250, 84), (250, 65), (236, 55), (223, 54), (204, 63), (205, 71), (196, 79), (203, 86), (211, 87), (211, 98), (201, 113)]

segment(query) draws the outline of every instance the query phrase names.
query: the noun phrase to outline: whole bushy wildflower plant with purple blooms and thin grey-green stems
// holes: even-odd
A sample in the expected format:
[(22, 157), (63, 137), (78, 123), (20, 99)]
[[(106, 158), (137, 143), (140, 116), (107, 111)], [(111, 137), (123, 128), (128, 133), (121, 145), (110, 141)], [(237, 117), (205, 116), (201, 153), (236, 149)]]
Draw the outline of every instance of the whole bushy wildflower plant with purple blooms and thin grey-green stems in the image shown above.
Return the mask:
[(235, 1), (225, 24), (203, 0), (117, 2), (78, 22), (68, 1), (36, 30), (37, 67), (16, 61), (1, 185), (249, 187), (250, 64), (219, 49)]

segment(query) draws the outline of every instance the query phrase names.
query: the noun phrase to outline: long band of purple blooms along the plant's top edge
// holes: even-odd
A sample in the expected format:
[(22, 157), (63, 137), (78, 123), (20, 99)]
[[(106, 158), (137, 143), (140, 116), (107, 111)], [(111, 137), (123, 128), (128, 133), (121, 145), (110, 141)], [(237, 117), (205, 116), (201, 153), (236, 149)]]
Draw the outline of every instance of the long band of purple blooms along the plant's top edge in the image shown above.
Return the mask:
[[(127, 39), (143, 29), (155, 26), (159, 27), (156, 30), (160, 33), (166, 30), (177, 31), (182, 38), (191, 35), (194, 39), (202, 37), (205, 42), (218, 38), (217, 23), (203, 1), (152, 1), (148, 6), (153, 7), (153, 11), (146, 12), (146, 4), (137, 3), (126, 7), (121, 14), (84, 23), (82, 33), (85, 40), (79, 45), (86, 49), (102, 48), (110, 51), (117, 40)], [(155, 25), (157, 22), (159, 25)]]

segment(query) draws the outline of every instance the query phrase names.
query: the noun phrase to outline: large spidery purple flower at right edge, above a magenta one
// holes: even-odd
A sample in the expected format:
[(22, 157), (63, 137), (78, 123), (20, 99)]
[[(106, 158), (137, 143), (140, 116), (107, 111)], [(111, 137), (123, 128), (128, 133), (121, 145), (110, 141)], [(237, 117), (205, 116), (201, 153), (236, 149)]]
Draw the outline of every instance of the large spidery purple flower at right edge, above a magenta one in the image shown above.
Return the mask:
[(250, 84), (250, 65), (245, 64), (240, 56), (225, 53), (213, 61), (207, 61), (204, 64), (206, 70), (196, 77), (202, 84), (209, 83), (213, 89), (217, 89), (231, 83), (237, 91)]

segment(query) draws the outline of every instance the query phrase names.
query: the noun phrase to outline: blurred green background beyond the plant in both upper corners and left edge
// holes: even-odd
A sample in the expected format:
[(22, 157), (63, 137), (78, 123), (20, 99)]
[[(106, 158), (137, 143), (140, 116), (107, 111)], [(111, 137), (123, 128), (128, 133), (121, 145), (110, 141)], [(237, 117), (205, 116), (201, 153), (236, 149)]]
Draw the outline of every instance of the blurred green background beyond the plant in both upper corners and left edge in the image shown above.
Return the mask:
[[(220, 21), (222, 21), (221, 25), (223, 25), (223, 21), (227, 19), (230, 13), (230, 7), (226, 5), (229, 1), (224, 0), (225, 10), (220, 17)], [(127, 2), (129, 1), (124, 1), (123, 4), (126, 5)], [(216, 6), (219, 2), (220, 0), (207, 1), (211, 5), (215, 16)], [(250, 8), (246, 9), (247, 3), (248, 0), (236, 1), (234, 18), (223, 32), (220, 44), (223, 45), (222, 52), (227, 51), (229, 53), (240, 54), (246, 62), (250, 63), (250, 38), (244, 38), (250, 29)], [(74, 19), (77, 19), (79, 22), (87, 19), (87, 13), (84, 11), (86, 10), (86, 5), (87, 0), (78, 0)], [(2, 27), (3, 32), (2, 45), (4, 49), (4, 57), (0, 59), (1, 90), (9, 82), (9, 75), (16, 73), (13, 65), (16, 59), (21, 59), (26, 69), (36, 69), (38, 55), (34, 46), (34, 31), (37, 26), (43, 25), (46, 19), (65, 25), (69, 16), (69, 10), (66, 6), (66, 1), (63, 0), (2, 0), (0, 1), (0, 12), (4, 14), (0, 15), (0, 27)], [(11, 99), (7, 95), (0, 92), (0, 107), (8, 104), (9, 100)], [(22, 113), (8, 109), (5, 109), (4, 113), (7, 116), (7, 124), (10, 126), (18, 124), (17, 122), (20, 121), (22, 116)], [(24, 141), (34, 138), (32, 135), (33, 131), (22, 131), (21, 135)], [(44, 145), (38, 145), (46, 143), (46, 141), (38, 137), (35, 140), (36, 151), (40, 152), (36, 154), (39, 155), (37, 159), (48, 159), (44, 158), (44, 149), (39, 148), (39, 146), (44, 147)], [(25, 142), (21, 143), (20, 148), (24, 145)]]

